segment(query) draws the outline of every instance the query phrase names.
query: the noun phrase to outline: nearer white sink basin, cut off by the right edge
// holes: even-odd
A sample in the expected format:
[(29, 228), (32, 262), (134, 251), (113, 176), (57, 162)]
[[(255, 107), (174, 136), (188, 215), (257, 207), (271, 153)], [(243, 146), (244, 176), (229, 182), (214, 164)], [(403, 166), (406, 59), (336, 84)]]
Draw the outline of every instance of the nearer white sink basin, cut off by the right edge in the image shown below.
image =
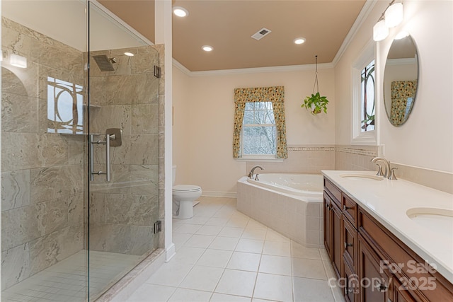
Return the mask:
[(453, 230), (453, 209), (412, 208), (406, 215), (415, 223), (434, 230)]

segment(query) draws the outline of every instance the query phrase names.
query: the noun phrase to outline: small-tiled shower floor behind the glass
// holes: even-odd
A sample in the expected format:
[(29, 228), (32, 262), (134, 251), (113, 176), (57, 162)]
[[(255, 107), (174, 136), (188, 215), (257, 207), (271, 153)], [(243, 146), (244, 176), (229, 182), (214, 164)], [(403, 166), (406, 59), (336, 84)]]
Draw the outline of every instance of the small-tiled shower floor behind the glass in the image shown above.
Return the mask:
[[(90, 300), (139, 262), (140, 256), (90, 251)], [(113, 276), (117, 276), (112, 280)], [(86, 301), (86, 250), (1, 292), (1, 301)]]

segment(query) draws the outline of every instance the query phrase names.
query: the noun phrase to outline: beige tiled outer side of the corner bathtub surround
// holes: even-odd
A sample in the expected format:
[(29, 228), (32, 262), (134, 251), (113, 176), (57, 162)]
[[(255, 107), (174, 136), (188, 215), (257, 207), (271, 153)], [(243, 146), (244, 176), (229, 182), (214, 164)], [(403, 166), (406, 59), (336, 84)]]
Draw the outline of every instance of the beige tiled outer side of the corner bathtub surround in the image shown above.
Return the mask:
[(306, 202), (304, 197), (237, 182), (237, 209), (307, 248), (323, 246), (322, 198)]

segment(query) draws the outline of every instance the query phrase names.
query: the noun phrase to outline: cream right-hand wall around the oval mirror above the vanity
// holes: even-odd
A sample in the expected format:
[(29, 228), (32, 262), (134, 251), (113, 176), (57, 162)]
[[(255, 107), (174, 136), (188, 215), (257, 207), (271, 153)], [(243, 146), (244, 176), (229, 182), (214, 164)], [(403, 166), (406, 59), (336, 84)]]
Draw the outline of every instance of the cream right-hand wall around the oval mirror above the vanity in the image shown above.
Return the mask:
[[(350, 66), (371, 40), (372, 26), (386, 6), (384, 1), (377, 2), (336, 65), (336, 144), (350, 144)], [(400, 30), (411, 33), (420, 63), (417, 98), (406, 124), (392, 126), (384, 111), (382, 94), (379, 98), (379, 139), (385, 146), (385, 157), (392, 163), (453, 172), (452, 11), (452, 1), (404, 1), (403, 23), (391, 29), (389, 37), (377, 43), (380, 83), (386, 54)]]

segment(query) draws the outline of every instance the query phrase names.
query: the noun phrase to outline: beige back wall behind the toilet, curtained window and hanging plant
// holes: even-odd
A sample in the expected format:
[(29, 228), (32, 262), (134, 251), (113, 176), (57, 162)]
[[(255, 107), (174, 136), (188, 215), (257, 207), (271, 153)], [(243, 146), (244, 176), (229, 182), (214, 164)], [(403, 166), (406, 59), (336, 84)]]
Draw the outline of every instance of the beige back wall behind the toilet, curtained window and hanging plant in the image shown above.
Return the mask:
[[(314, 117), (300, 107), (313, 90), (311, 66), (299, 71), (203, 76), (187, 76), (177, 68), (173, 71), (177, 183), (200, 185), (204, 192), (236, 192), (236, 181), (246, 175), (246, 162), (232, 156), (234, 88), (285, 86), (289, 146), (332, 145), (335, 141), (332, 113)], [(328, 112), (335, 112), (333, 69), (319, 69), (319, 83), (321, 94), (331, 100)]]

